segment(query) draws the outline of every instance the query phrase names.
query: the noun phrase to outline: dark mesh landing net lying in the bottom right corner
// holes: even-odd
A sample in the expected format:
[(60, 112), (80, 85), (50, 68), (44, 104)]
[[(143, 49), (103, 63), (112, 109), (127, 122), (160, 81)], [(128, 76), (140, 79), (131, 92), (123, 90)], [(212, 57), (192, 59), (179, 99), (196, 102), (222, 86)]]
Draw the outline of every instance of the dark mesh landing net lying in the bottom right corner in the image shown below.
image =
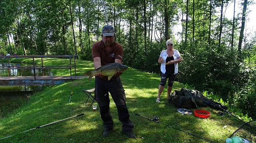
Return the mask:
[(247, 139), (251, 143), (256, 143), (256, 120), (243, 124), (240, 128), (235, 130), (232, 135), (230, 135), (230, 137), (232, 136), (238, 136), (243, 139)]

